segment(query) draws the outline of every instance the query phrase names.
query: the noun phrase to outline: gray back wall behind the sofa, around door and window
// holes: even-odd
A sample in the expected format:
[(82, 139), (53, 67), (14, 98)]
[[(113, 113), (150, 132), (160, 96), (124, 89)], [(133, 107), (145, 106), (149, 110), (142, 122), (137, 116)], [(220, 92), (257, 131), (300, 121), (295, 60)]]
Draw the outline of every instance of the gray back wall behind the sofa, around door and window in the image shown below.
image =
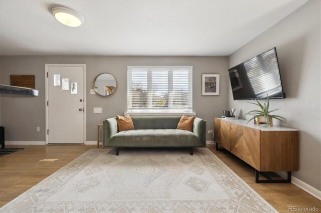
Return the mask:
[[(38, 97), (2, 97), (1, 122), (6, 127), (6, 140), (45, 141), (45, 63), (86, 64), (87, 141), (97, 140), (97, 124), (103, 119), (127, 110), (127, 65), (193, 66), (193, 109), (213, 129), (213, 118), (227, 106), (228, 57), (202, 56), (0, 56), (0, 83), (10, 84), (10, 74), (34, 74)], [(93, 80), (108, 72), (117, 79), (118, 88), (111, 96), (90, 94)], [(202, 96), (201, 74), (220, 73), (219, 96)], [(94, 114), (93, 107), (102, 107)], [(36, 131), (40, 126), (41, 131)], [(207, 135), (211, 140), (211, 136)]]

